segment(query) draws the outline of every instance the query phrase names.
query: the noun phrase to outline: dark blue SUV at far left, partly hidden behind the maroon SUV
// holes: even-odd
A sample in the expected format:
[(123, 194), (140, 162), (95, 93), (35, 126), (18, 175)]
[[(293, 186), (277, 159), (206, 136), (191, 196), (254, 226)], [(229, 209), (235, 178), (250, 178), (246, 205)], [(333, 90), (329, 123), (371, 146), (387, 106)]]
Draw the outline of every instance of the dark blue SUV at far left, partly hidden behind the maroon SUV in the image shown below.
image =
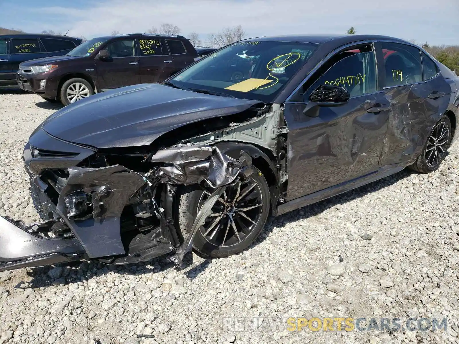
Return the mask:
[(16, 72), (24, 61), (65, 55), (81, 39), (47, 34), (0, 35), (0, 86), (17, 86)]

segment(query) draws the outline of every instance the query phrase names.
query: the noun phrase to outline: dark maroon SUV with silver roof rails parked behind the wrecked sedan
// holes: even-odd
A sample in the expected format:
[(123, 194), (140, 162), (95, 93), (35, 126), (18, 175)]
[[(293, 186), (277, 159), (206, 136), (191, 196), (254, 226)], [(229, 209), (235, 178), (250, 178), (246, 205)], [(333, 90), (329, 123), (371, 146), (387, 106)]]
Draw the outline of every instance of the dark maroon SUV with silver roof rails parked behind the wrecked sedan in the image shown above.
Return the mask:
[(67, 55), (21, 63), (22, 89), (67, 105), (94, 93), (161, 82), (199, 57), (183, 36), (132, 33), (91, 39)]

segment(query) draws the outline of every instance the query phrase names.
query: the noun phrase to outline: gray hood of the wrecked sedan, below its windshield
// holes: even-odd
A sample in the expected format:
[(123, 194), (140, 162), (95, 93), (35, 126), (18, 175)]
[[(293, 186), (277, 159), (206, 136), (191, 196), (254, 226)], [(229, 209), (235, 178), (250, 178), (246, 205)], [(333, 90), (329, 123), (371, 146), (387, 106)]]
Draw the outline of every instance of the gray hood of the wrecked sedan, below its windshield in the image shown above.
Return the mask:
[(140, 84), (67, 105), (42, 126), (59, 139), (95, 148), (141, 146), (184, 124), (241, 112), (257, 103), (158, 83)]

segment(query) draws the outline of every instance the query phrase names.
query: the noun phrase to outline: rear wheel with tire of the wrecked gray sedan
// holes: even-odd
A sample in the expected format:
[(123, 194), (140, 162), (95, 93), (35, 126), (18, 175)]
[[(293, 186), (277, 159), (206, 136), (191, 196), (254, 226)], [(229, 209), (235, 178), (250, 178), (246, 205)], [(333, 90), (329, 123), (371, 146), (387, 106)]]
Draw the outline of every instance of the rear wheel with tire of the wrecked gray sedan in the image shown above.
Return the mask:
[(451, 122), (448, 116), (440, 118), (429, 133), (429, 137), (421, 154), (416, 161), (408, 167), (420, 173), (430, 173), (437, 170), (445, 158), (449, 145), (451, 144), (452, 132)]

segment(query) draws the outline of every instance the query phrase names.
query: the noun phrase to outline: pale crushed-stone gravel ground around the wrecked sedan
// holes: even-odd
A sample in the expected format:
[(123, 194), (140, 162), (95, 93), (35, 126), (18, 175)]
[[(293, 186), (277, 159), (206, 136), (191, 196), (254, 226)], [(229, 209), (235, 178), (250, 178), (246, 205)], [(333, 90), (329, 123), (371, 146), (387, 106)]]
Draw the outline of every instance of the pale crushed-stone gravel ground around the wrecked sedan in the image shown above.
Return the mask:
[[(0, 215), (38, 219), (21, 153), (58, 108), (0, 91)], [(163, 259), (2, 272), (0, 344), (459, 343), (458, 196), (456, 143), (437, 172), (403, 171), (271, 219), (249, 250), (193, 254), (180, 272)], [(402, 326), (289, 331), (289, 317)], [(447, 330), (409, 331), (407, 317), (446, 317)]]

